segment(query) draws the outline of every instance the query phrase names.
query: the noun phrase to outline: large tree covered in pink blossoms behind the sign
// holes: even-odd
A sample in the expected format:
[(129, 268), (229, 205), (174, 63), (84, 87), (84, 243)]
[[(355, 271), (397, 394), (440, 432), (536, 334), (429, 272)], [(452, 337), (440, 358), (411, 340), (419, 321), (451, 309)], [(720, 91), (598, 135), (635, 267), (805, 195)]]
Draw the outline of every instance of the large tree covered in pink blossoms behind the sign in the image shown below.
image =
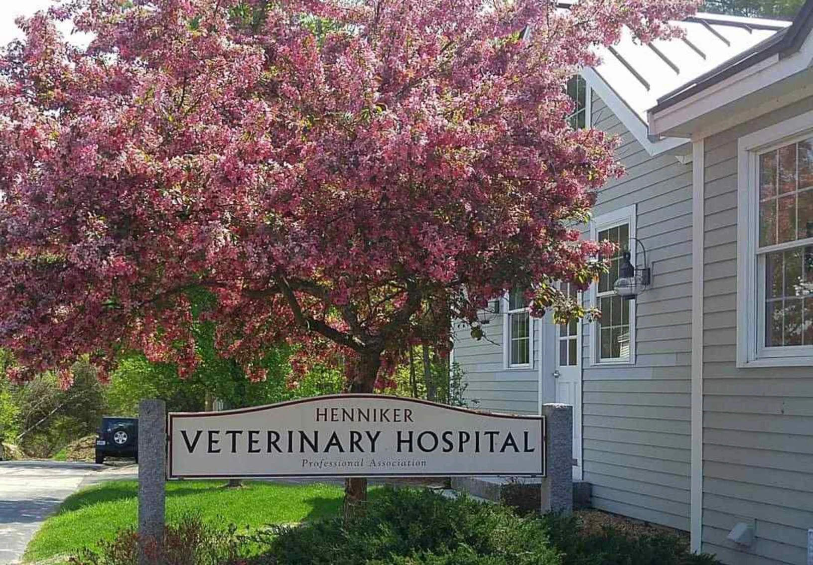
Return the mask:
[(22, 20), (0, 59), (0, 346), (18, 372), (133, 349), (190, 372), (205, 291), (253, 378), (294, 341), (367, 393), (448, 341), (439, 308), (476, 331), (533, 286), (537, 314), (584, 315), (555, 281), (601, 271), (576, 228), (621, 168), (611, 136), (569, 128), (564, 85), (693, 3), (72, 0)]

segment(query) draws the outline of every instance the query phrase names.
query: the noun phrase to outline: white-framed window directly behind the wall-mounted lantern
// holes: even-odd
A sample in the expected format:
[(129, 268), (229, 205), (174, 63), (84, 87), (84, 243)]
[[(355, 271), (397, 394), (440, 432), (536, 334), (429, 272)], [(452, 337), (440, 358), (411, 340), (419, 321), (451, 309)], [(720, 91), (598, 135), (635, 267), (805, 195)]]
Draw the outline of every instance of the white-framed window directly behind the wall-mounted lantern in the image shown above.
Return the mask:
[(634, 237), (635, 218), (635, 206), (629, 206), (599, 216), (591, 230), (593, 239), (612, 241), (617, 246), (615, 254), (606, 258), (609, 272), (602, 274), (598, 284), (593, 285), (593, 303), (602, 313), (593, 324), (590, 346), (593, 363), (635, 362), (635, 302), (624, 300), (615, 293), (622, 254), (630, 251), (633, 262), (635, 260), (634, 248), (629, 246), (630, 237)]

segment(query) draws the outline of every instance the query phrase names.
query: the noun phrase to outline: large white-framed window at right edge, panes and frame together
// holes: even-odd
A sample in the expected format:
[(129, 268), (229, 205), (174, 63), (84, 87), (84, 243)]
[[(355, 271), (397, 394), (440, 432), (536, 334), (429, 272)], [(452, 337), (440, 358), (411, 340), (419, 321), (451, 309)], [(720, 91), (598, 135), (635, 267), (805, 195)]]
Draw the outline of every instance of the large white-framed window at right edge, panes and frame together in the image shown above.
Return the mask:
[(740, 140), (741, 366), (813, 363), (813, 130), (766, 139), (804, 122)]

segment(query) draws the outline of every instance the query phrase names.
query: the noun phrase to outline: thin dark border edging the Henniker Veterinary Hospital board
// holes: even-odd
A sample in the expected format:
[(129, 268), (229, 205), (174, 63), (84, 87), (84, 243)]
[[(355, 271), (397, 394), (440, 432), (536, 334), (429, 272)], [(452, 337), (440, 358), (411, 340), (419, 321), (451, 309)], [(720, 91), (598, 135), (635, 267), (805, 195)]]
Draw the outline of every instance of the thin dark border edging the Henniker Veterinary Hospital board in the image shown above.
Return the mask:
[[(415, 472), (393, 472), (379, 474), (371, 474), (369, 472), (363, 473), (320, 473), (316, 474), (301, 474), (301, 473), (249, 473), (244, 475), (176, 475), (172, 473), (172, 435), (173, 435), (173, 420), (176, 418), (192, 418), (206, 415), (208, 417), (217, 417), (220, 415), (233, 415), (233, 414), (246, 414), (250, 412), (264, 411), (269, 408), (279, 408), (282, 406), (292, 406), (294, 404), (304, 404), (310, 402), (319, 402), (321, 400), (333, 400), (340, 398), (386, 398), (387, 400), (396, 400), (398, 402), (424, 404), (427, 406), (439, 407), (445, 410), (463, 412), (465, 414), (473, 414), (480, 416), (488, 416), (491, 418), (501, 419), (523, 419), (529, 421), (538, 421), (541, 426), (541, 474), (539, 473), (502, 473), (502, 472), (486, 472), (476, 473), (472, 475), (471, 472), (457, 472), (457, 473), (426, 473), (416, 474)], [(265, 404), (263, 406), (247, 406), (246, 408), (235, 408), (233, 410), (224, 410), (217, 412), (167, 412), (167, 480), (207, 480), (207, 479), (285, 479), (285, 478), (350, 478), (350, 477), (369, 477), (371, 479), (388, 479), (388, 478), (404, 478), (404, 477), (451, 477), (451, 476), (517, 476), (517, 477), (540, 477), (547, 476), (547, 421), (544, 415), (518, 415), (518, 414), (502, 414), (500, 412), (489, 412), (482, 410), (472, 410), (471, 408), (463, 408), (462, 406), (448, 406), (439, 402), (431, 402), (423, 398), (410, 398), (399, 397), (389, 394), (374, 394), (374, 393), (348, 393), (348, 394), (325, 394), (324, 396), (315, 396), (308, 398), (297, 398), (294, 400), (286, 400), (284, 402), (274, 402), (273, 404)]]

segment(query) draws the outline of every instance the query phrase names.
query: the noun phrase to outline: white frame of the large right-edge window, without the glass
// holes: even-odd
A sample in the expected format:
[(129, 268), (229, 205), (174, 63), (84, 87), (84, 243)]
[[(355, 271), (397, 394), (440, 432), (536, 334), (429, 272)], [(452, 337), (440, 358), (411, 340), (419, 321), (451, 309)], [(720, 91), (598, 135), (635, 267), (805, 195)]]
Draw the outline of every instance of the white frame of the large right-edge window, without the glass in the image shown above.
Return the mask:
[[(759, 260), (759, 154), (813, 136), (813, 111), (737, 141), (737, 367), (810, 367), (813, 346), (764, 346), (764, 261)], [(813, 244), (813, 238), (764, 247), (759, 254)]]

